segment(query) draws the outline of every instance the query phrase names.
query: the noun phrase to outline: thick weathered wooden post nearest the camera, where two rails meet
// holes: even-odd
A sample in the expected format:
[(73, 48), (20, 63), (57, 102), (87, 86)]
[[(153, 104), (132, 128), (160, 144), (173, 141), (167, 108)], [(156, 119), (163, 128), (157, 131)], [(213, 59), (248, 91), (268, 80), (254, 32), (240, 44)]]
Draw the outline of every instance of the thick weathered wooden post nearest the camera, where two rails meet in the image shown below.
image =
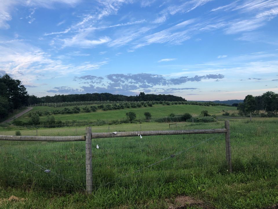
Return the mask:
[(92, 128), (86, 127), (86, 191), (91, 194), (93, 190), (92, 170)]

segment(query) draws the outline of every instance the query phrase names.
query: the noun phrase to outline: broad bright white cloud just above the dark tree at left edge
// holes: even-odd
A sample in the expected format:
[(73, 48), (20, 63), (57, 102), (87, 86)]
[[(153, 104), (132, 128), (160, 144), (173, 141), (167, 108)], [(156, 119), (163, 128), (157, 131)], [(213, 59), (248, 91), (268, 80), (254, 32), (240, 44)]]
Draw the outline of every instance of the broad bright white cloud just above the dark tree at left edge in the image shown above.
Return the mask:
[[(76, 52), (76, 55), (82, 55)], [(47, 79), (56, 76), (78, 74), (88, 70), (99, 69), (108, 61), (83, 62), (79, 64), (64, 64), (63, 60), (54, 59), (40, 48), (23, 42), (0, 44), (0, 69), (14, 75), (23, 83), (37, 79)]]

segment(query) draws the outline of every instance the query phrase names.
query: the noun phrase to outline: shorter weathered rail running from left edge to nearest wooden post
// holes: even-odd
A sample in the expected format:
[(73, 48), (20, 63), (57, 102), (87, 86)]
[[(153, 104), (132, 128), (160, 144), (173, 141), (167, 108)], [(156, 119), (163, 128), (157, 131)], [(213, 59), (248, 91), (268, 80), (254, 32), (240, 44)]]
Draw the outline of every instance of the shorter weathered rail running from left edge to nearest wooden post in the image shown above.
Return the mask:
[(8, 141), (85, 141), (85, 136), (7, 136), (0, 135), (0, 140)]

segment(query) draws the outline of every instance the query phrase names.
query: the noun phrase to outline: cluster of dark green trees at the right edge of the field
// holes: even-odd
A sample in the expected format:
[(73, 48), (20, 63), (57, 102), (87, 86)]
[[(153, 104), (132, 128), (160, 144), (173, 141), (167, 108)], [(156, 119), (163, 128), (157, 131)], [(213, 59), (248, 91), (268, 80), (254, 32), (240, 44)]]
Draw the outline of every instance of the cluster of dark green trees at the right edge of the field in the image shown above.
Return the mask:
[(237, 106), (239, 115), (248, 116), (250, 113), (261, 117), (277, 116), (278, 94), (267, 91), (261, 96), (247, 95), (242, 103)]

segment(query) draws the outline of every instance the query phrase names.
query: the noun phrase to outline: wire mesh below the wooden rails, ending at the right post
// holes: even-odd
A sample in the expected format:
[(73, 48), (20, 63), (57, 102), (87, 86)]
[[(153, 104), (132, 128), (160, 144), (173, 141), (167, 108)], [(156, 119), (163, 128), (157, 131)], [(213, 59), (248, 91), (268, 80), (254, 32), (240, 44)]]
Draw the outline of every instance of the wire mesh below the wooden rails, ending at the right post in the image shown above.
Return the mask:
[[(94, 138), (93, 190), (169, 182), (215, 161), (224, 171), (224, 147), (219, 134)], [(53, 192), (86, 189), (85, 142), (0, 141), (0, 149), (2, 185)]]

